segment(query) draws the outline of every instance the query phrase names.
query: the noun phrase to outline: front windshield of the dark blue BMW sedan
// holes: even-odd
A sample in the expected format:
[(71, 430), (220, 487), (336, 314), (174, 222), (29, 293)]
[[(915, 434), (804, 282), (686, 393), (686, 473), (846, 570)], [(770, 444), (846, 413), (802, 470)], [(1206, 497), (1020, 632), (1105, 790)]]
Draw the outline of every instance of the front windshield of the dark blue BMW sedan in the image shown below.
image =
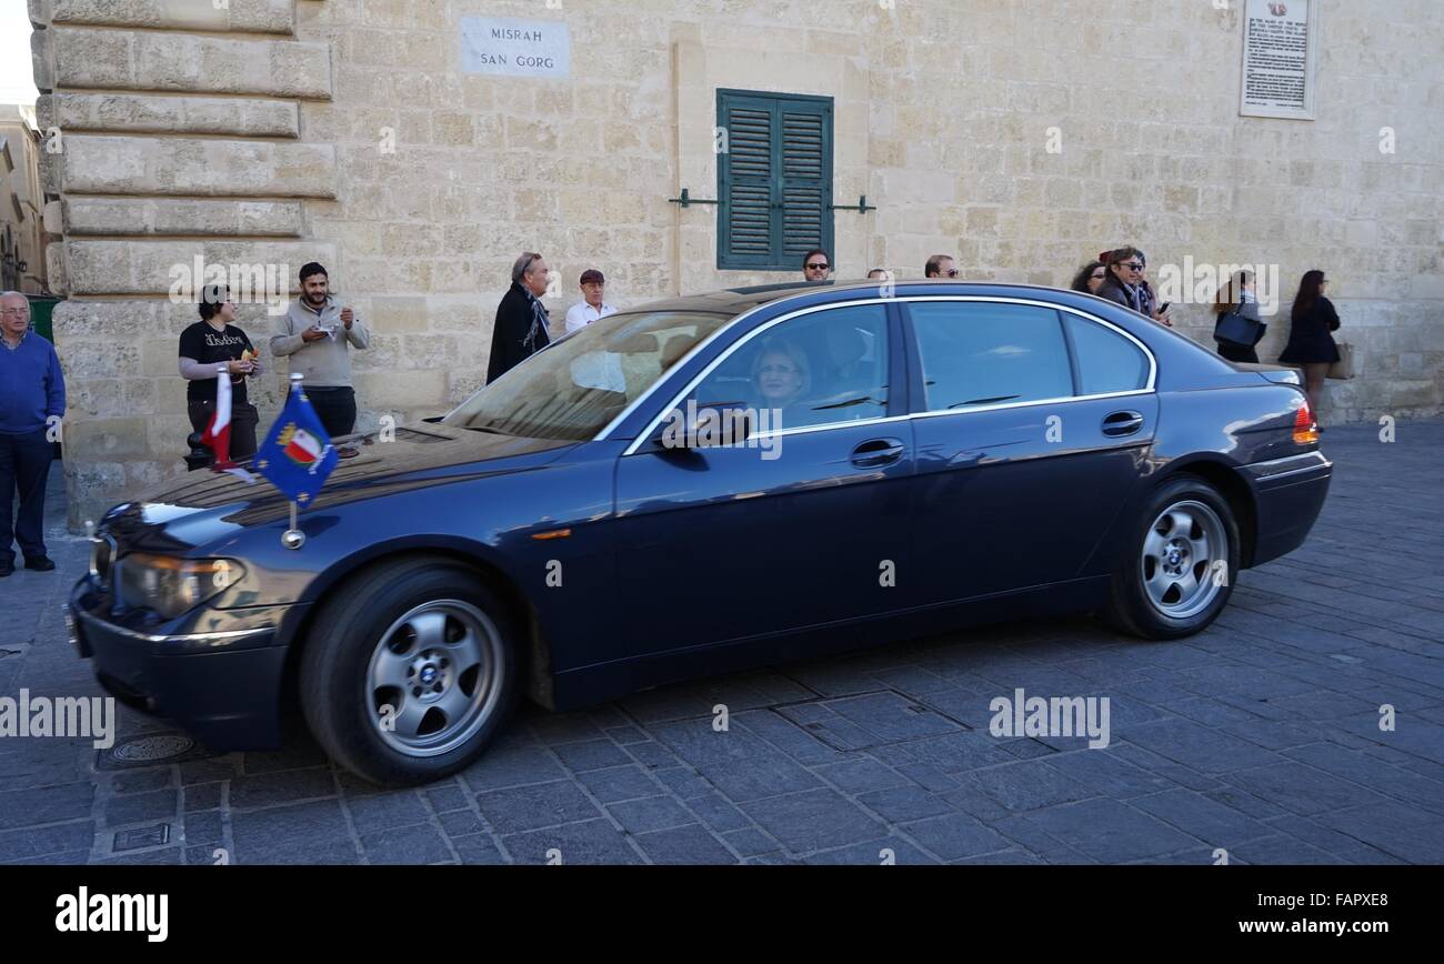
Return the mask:
[(442, 423), (533, 439), (593, 439), (731, 315), (612, 315), (537, 352)]

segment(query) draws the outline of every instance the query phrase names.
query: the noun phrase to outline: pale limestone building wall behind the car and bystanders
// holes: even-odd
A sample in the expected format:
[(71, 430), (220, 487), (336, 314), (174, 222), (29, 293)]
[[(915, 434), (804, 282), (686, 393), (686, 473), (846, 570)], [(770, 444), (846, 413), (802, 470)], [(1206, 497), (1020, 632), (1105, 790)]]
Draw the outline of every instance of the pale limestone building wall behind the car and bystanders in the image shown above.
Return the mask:
[[(361, 426), (482, 384), (521, 250), (627, 306), (796, 280), (719, 271), (716, 89), (836, 98), (839, 277), (1066, 284), (1135, 242), (1165, 264), (1320, 267), (1362, 377), (1326, 416), (1444, 401), (1444, 17), (1437, 0), (1315, 0), (1317, 120), (1239, 117), (1239, 0), (30, 0), (56, 338), (72, 388), (72, 521), (179, 473), (170, 271), (331, 268), (373, 323)], [(462, 16), (565, 22), (570, 76), (462, 72)], [(1382, 131), (1395, 152), (1382, 153)], [(1050, 152), (1061, 144), (1061, 150)], [(1180, 304), (1207, 342), (1212, 315)], [(263, 339), (264, 306), (243, 323)], [(1261, 346), (1287, 336), (1275, 319)], [(254, 391), (263, 424), (284, 372)]]

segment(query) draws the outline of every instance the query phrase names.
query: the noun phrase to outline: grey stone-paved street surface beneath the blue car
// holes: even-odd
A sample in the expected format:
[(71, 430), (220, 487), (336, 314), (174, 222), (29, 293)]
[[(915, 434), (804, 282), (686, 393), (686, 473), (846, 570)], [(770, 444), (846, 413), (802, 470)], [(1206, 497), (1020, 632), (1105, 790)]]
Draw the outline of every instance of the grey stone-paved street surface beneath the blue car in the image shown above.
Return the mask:
[[(527, 709), (465, 774), (403, 792), (300, 730), (283, 752), (127, 769), (90, 740), (0, 739), (0, 862), (1440, 863), (1444, 421), (1393, 444), (1337, 427), (1324, 450), (1307, 545), (1243, 573), (1193, 639), (1011, 623)], [(0, 583), (0, 696), (100, 694), (61, 616), (85, 544), (58, 486), (51, 507), (61, 571)], [(989, 701), (1018, 687), (1108, 696), (1110, 746), (989, 736)], [(166, 732), (121, 710), (118, 740)]]

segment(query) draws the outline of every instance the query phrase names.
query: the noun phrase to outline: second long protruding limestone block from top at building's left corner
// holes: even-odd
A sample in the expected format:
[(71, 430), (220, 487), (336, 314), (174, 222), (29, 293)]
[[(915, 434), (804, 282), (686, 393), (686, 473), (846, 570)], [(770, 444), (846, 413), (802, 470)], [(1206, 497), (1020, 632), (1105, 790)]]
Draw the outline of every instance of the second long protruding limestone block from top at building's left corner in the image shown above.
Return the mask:
[(77, 134), (62, 156), (69, 193), (336, 196), (331, 144)]

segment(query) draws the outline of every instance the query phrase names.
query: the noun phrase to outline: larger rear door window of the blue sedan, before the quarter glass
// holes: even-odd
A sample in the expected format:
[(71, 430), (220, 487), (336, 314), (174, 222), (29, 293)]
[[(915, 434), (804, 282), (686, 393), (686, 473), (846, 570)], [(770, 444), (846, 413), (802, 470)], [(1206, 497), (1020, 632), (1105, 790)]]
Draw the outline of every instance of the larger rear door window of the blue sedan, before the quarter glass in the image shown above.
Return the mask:
[(926, 410), (947, 411), (1073, 394), (1058, 315), (1032, 304), (908, 304), (923, 361)]

